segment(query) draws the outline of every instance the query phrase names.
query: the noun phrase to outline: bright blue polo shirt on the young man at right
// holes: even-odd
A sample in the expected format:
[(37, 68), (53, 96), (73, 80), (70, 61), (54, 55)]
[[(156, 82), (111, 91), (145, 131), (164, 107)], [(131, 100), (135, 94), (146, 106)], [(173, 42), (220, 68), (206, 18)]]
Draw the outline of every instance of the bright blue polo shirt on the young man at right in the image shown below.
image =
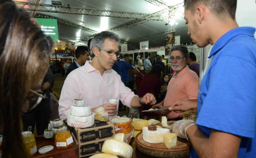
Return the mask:
[[(239, 158), (256, 157), (255, 28), (238, 27), (214, 44), (211, 64), (199, 87), (196, 124), (242, 137)], [(190, 157), (198, 157), (194, 149)]]

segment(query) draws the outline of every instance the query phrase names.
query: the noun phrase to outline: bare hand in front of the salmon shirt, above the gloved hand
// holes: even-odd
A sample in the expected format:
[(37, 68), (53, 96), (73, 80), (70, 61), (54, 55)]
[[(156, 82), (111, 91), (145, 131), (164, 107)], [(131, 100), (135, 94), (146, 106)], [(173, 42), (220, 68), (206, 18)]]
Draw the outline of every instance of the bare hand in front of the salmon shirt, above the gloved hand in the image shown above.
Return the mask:
[(184, 112), (184, 111), (188, 111), (188, 110), (197, 110), (197, 100), (196, 99), (188, 100), (188, 101), (177, 100), (171, 104), (171, 106), (169, 107), (169, 110), (172, 113)]

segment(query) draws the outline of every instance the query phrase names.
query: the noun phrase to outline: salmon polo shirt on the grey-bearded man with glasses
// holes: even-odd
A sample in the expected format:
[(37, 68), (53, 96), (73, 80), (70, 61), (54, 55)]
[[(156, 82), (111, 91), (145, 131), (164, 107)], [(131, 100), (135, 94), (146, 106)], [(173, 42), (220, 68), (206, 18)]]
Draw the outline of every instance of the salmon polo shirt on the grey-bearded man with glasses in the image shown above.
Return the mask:
[[(174, 74), (174, 76), (176, 73)], [(172, 77), (164, 99), (164, 106), (170, 106), (177, 99), (193, 100), (197, 99), (199, 88), (198, 75), (186, 66), (177, 74)]]

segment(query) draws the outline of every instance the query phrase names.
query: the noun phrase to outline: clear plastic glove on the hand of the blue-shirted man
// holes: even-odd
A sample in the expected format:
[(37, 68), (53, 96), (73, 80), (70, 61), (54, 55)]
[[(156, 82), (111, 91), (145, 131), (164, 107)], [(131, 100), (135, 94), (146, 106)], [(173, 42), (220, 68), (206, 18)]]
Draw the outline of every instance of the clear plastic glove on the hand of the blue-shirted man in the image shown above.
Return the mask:
[(172, 130), (172, 133), (176, 133), (177, 136), (181, 138), (186, 138), (184, 129), (187, 124), (194, 123), (194, 122), (195, 121), (192, 121), (192, 120), (178, 120), (171, 125), (170, 131)]

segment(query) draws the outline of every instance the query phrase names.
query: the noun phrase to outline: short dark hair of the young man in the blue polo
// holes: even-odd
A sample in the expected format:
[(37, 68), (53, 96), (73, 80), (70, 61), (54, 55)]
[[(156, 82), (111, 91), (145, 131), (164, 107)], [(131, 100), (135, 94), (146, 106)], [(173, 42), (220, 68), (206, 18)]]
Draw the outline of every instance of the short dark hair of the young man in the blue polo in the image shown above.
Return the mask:
[(235, 19), (237, 0), (184, 0), (185, 10), (190, 10), (191, 14), (195, 13), (195, 7), (198, 4), (206, 5), (217, 16), (229, 15)]

